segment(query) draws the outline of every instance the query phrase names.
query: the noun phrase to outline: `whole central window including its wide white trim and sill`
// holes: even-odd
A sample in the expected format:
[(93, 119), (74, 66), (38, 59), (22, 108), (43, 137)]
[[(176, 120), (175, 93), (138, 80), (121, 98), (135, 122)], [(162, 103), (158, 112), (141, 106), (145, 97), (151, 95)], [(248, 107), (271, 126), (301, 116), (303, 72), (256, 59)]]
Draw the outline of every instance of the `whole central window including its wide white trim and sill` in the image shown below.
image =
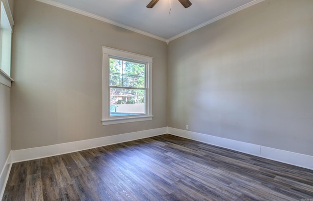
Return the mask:
[(152, 58), (103, 50), (102, 124), (152, 120)]

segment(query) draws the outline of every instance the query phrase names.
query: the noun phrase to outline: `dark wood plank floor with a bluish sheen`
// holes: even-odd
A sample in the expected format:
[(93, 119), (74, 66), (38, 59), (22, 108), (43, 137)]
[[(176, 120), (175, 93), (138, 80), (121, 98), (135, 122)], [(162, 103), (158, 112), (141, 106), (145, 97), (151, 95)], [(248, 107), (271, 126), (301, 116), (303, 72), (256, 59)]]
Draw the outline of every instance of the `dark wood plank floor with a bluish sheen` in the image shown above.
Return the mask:
[(313, 170), (162, 135), (14, 163), (2, 200), (301, 199), (313, 200)]

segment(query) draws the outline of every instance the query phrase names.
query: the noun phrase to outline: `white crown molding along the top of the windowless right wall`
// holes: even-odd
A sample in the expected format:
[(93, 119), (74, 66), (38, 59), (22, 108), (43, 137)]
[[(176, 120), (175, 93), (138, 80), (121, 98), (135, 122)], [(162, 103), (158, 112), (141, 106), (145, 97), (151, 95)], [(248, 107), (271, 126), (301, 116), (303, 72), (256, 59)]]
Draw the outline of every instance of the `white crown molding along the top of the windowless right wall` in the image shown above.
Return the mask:
[(262, 2), (262, 1), (265, 1), (265, 0), (253, 0), (253, 1), (251, 1), (251, 2), (248, 2), (248, 3), (246, 3), (245, 5), (242, 5), (242, 6), (240, 6), (240, 7), (238, 7), (238, 8), (235, 8), (235, 9), (233, 9), (233, 10), (231, 10), (231, 11), (228, 11), (228, 12), (226, 12), (226, 13), (224, 13), (224, 14), (218, 16), (218, 17), (215, 17), (215, 18), (211, 19), (211, 20), (205, 21), (205, 22), (199, 24), (198, 26), (195, 26), (195, 27), (193, 27), (193, 28), (191, 28), (191, 29), (188, 29), (187, 31), (181, 32), (180, 34), (178, 34), (178, 35), (176, 35), (176, 36), (173, 36), (172, 38), (166, 40), (166, 43), (169, 43), (169, 42), (172, 41), (172, 40), (178, 39), (179, 37), (182, 37), (182, 36), (184, 36), (184, 35), (186, 35), (186, 34), (189, 34), (189, 33), (193, 32), (193, 31), (196, 31), (197, 29), (200, 29), (200, 28), (203, 27), (203, 26), (206, 26), (206, 25), (208, 25), (208, 24), (211, 24), (211, 23), (213, 23), (213, 22), (215, 22), (215, 21), (217, 21), (217, 20), (221, 20), (221, 19), (223, 19), (223, 18), (226, 18), (227, 16), (230, 16), (230, 15), (232, 15), (232, 14), (234, 14), (234, 13), (237, 13), (237, 12), (239, 12), (239, 11), (241, 11), (241, 10), (247, 8), (247, 7), (250, 7), (250, 6), (252, 6), (252, 5), (255, 5), (255, 4), (260, 3), (260, 2)]

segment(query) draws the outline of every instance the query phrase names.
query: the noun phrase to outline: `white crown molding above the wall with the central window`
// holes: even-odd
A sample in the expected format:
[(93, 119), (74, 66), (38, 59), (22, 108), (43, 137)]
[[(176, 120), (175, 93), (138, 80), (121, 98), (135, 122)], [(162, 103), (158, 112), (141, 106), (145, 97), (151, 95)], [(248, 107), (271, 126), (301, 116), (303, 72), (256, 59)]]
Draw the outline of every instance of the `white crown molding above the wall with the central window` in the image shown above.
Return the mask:
[(162, 37), (150, 34), (148, 32), (142, 31), (140, 29), (133, 28), (131, 26), (127, 26), (127, 25), (119, 23), (117, 21), (109, 20), (107, 18), (98, 16), (98, 15), (94, 15), (92, 13), (89, 13), (89, 12), (86, 12), (86, 11), (83, 11), (83, 10), (80, 10), (80, 9), (77, 9), (77, 8), (73, 8), (73, 7), (65, 5), (63, 3), (59, 3), (59, 2), (56, 2), (56, 1), (53, 1), (53, 0), (37, 0), (37, 1), (42, 2), (42, 3), (46, 3), (46, 4), (49, 4), (49, 5), (58, 7), (58, 8), (62, 8), (62, 9), (65, 9), (65, 10), (68, 10), (68, 11), (71, 11), (71, 12), (74, 12), (74, 13), (78, 13), (80, 15), (84, 15), (84, 16), (87, 16), (89, 18), (93, 18), (95, 20), (104, 21), (104, 22), (107, 22), (109, 24), (112, 24), (112, 25), (115, 25), (115, 26), (118, 26), (118, 27), (130, 30), (130, 31), (134, 31), (134, 32), (136, 32), (138, 34), (142, 34), (142, 35), (145, 35), (145, 36), (148, 36), (148, 37), (151, 37), (151, 38), (154, 38), (154, 39), (166, 42), (166, 39), (164, 39)]

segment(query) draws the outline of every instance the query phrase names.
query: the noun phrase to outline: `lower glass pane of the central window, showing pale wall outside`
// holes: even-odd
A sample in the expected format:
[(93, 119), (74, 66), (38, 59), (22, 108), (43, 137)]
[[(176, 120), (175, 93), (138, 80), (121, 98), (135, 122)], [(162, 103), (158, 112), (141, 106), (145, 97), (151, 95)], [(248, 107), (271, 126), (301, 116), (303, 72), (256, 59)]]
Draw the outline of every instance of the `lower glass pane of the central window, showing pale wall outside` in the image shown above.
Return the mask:
[(146, 90), (110, 89), (110, 117), (145, 114)]

